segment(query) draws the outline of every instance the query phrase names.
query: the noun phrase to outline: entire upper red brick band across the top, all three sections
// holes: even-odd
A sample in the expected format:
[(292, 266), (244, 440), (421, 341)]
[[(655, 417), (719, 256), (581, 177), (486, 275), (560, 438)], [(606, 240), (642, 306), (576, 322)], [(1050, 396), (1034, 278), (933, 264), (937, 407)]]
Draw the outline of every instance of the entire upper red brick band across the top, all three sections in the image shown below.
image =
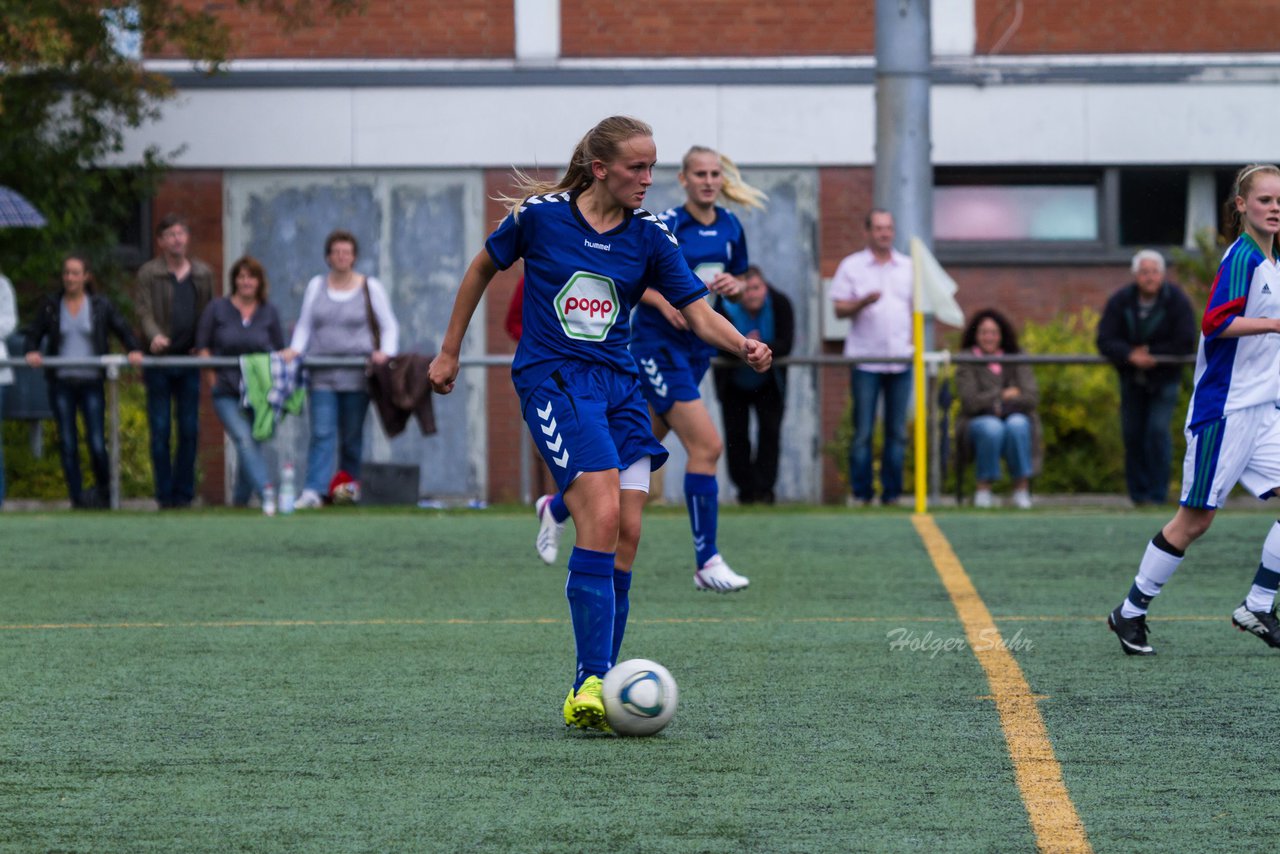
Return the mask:
[[(364, 13), (321, 17), (292, 32), (270, 14), (233, 0), (182, 0), (216, 12), (232, 27), (238, 58), (509, 58), (512, 0), (369, 0)], [(956, 0), (969, 3), (970, 0)], [(977, 52), (989, 54), (1020, 19), (1000, 52), (1238, 52), (1272, 51), (1266, 22), (1274, 0), (972, 0)], [(1236, 22), (1258, 26), (1238, 26)], [(806, 56), (876, 52), (876, 0), (675, 0), (643, 6), (561, 1), (562, 55)], [(174, 56), (165, 50), (160, 55)]]

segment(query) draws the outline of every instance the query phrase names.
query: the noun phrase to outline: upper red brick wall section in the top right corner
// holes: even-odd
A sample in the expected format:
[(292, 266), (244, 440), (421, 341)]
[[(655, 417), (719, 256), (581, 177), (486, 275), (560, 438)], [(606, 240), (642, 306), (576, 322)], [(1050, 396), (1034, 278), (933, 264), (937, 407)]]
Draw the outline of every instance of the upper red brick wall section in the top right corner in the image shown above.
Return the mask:
[(1000, 42), (1015, 23), (1016, 6), (1021, 20), (1002, 55), (1275, 50), (1274, 0), (974, 1), (978, 54)]

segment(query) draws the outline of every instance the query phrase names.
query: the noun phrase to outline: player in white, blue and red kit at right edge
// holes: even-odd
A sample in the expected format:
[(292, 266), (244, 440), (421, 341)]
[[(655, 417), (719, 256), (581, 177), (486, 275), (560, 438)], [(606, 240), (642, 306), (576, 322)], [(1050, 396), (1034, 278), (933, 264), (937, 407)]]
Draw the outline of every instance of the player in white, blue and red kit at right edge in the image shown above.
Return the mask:
[[(1129, 656), (1153, 656), (1147, 608), (1187, 548), (1240, 483), (1260, 498), (1280, 494), (1280, 169), (1240, 169), (1228, 201), (1239, 237), (1219, 265), (1201, 323), (1196, 388), (1187, 410), (1181, 502), (1143, 554), (1138, 575), (1107, 625)], [(1231, 622), (1280, 647), (1280, 522), (1271, 526), (1253, 584)]]

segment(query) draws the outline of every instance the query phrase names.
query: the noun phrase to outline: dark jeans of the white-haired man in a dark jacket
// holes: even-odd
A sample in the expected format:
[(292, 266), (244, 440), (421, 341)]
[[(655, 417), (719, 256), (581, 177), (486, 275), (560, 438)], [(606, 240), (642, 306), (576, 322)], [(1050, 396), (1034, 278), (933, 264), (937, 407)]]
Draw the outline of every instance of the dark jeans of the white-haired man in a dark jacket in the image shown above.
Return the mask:
[(1135, 504), (1169, 499), (1172, 437), (1169, 423), (1178, 406), (1179, 380), (1148, 385), (1120, 378), (1120, 429), (1124, 434), (1124, 479)]

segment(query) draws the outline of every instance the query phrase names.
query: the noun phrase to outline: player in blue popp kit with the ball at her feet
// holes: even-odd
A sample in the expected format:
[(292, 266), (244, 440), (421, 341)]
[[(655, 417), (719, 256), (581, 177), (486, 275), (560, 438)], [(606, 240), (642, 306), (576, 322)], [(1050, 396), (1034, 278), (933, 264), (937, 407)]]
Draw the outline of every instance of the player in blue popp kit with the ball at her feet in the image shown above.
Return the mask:
[(558, 182), (517, 173), (511, 213), (463, 275), (430, 367), (435, 391), (452, 391), (485, 288), (524, 259), (524, 334), (511, 375), (577, 530), (564, 585), (577, 673), (563, 713), (566, 725), (584, 729), (608, 729), (600, 677), (626, 629), (649, 472), (667, 458), (627, 352), (631, 307), (645, 287), (657, 288), (700, 338), (759, 371), (773, 360), (703, 300), (707, 288), (675, 237), (640, 206), (655, 159), (649, 125), (613, 117), (582, 137)]

